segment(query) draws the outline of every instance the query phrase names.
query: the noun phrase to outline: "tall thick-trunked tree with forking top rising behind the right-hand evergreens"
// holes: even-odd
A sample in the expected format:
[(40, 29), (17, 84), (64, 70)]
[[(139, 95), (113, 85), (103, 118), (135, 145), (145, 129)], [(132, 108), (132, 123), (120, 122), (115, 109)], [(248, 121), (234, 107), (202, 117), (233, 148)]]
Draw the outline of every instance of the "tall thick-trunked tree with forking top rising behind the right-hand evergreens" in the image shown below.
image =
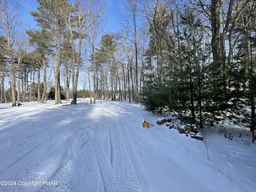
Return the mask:
[[(234, 29), (238, 18), (247, 8), (251, 0), (211, 0), (210, 4), (202, 0), (190, 0), (192, 10), (204, 14), (206, 20), (205, 25), (211, 30), (211, 48), (212, 48), (212, 99), (218, 110), (226, 110), (228, 105), (228, 70), (233, 48), (236, 40), (232, 40)], [(228, 55), (226, 54), (226, 38), (229, 39)]]

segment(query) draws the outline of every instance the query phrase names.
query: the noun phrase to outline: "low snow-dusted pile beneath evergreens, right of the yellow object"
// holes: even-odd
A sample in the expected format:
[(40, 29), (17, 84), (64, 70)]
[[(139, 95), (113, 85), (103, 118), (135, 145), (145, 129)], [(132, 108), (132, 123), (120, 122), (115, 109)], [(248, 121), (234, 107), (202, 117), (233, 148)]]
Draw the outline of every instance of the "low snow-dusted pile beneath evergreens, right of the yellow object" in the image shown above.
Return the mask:
[(174, 128), (174, 129), (177, 129), (180, 132), (180, 134), (186, 134), (186, 136), (190, 135), (191, 138), (203, 140), (202, 134), (198, 132), (198, 128), (194, 124), (181, 125), (181, 124), (172, 122), (171, 118), (158, 118), (158, 120), (156, 120), (156, 123), (158, 125), (162, 125), (166, 123), (166, 126), (169, 127), (169, 129)]

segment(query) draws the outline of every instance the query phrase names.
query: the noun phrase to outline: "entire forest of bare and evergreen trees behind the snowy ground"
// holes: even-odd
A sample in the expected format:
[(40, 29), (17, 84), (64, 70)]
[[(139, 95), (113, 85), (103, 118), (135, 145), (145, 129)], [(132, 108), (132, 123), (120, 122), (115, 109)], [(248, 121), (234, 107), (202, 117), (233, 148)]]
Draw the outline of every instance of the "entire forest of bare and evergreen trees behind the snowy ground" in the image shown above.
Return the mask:
[(256, 1), (37, 1), (36, 28), (22, 24), (22, 1), (0, 2), (0, 103), (43, 103), (54, 88), (55, 104), (61, 89), (76, 104), (82, 85), (94, 104), (141, 102), (201, 128), (234, 122), (256, 140)]

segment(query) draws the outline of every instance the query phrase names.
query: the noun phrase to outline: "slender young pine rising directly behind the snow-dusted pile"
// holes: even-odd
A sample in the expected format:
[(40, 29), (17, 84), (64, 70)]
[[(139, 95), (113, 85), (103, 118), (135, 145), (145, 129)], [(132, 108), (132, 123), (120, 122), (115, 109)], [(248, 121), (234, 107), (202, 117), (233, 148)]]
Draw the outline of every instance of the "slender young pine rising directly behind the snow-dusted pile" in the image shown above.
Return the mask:
[[(204, 106), (207, 103), (206, 92), (206, 68), (208, 67), (207, 58), (209, 55), (209, 47), (206, 38), (206, 31), (202, 25), (202, 20), (196, 18), (190, 10), (185, 10), (180, 15), (180, 53), (181, 58), (178, 58), (182, 63), (182, 70), (179, 70), (177, 79), (179, 76), (184, 76), (182, 81), (178, 81), (177, 94), (182, 97), (179, 98), (179, 102), (182, 103), (182, 107), (177, 109), (180, 114), (182, 110), (187, 114), (182, 114), (191, 123), (196, 123), (196, 119), (200, 121), (200, 127), (203, 128), (203, 123), (206, 121), (206, 117), (202, 115), (202, 110), (205, 110)], [(173, 70), (173, 69), (172, 69)], [(175, 80), (175, 77), (172, 78)], [(174, 85), (174, 84), (172, 84)], [(177, 95), (175, 94), (175, 95)], [(182, 101), (182, 99), (184, 99)], [(177, 99), (176, 99), (177, 100)], [(202, 102), (204, 101), (204, 106)], [(170, 106), (170, 109), (175, 106)]]

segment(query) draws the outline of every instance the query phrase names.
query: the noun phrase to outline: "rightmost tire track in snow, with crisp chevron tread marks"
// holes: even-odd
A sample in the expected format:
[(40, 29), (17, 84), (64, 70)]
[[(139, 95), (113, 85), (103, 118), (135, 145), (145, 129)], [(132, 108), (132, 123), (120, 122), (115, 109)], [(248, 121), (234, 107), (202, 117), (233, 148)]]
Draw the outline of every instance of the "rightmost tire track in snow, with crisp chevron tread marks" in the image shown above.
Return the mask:
[(111, 165), (118, 182), (118, 191), (138, 192), (138, 178), (126, 152), (120, 125), (114, 119), (110, 126)]

